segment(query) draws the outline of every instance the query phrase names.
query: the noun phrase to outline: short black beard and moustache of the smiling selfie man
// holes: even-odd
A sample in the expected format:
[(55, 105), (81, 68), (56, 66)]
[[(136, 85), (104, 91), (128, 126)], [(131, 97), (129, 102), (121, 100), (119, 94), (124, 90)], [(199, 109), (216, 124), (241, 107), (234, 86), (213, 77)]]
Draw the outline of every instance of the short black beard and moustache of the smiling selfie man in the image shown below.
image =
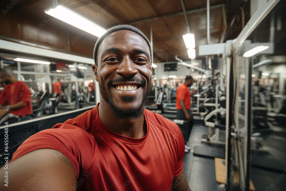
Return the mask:
[[(138, 107), (128, 109), (128, 110), (122, 110), (119, 107), (117, 107), (114, 103), (114, 98), (111, 95), (111, 88), (113, 88), (113, 86), (111, 84), (116, 83), (116, 82), (126, 82), (126, 81), (127, 82), (139, 82), (140, 84), (142, 84), (142, 86), (140, 88), (145, 89), (145, 87), (146, 87), (146, 82), (144, 80), (140, 80), (140, 79), (135, 78), (135, 77), (129, 78), (128, 80), (125, 80), (123, 78), (110, 80), (107, 82), (106, 87), (100, 81), (99, 82), (100, 94), (103, 97), (103, 99), (108, 103), (108, 105), (110, 105), (112, 112), (114, 113), (114, 115), (117, 118), (119, 118), (119, 119), (127, 119), (127, 118), (137, 119), (138, 117), (141, 117), (143, 115), (144, 104), (145, 104), (145, 101), (146, 101), (150, 91), (151, 91), (151, 84), (149, 85), (149, 87), (147, 87), (146, 93), (143, 94), (143, 99), (142, 99), (142, 101)], [(108, 91), (106, 91), (106, 89)], [(125, 101), (125, 102), (132, 102), (135, 99), (136, 99), (136, 96), (124, 96), (124, 97), (122, 97), (122, 101)]]

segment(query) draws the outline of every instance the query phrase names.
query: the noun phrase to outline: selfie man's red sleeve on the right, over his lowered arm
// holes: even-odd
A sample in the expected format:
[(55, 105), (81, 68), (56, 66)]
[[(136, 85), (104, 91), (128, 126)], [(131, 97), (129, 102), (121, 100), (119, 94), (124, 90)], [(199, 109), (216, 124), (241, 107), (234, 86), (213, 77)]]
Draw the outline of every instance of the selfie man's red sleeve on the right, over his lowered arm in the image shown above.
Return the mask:
[(177, 150), (177, 161), (175, 164), (175, 172), (174, 172), (174, 177), (178, 176), (179, 174), (181, 174), (182, 170), (183, 170), (183, 159), (184, 159), (184, 155), (185, 155), (185, 142), (184, 142), (184, 137), (182, 135), (182, 132), (180, 130), (180, 128), (177, 128), (176, 134), (179, 134), (178, 137), (178, 150)]

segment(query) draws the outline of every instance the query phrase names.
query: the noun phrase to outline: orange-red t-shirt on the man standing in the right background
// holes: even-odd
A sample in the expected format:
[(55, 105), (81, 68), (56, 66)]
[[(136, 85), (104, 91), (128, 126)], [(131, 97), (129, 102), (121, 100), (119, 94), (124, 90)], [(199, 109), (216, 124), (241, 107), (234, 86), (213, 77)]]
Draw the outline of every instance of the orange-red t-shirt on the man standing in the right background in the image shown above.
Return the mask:
[(179, 100), (184, 100), (186, 109), (191, 108), (191, 92), (190, 92), (188, 86), (186, 86), (186, 84), (182, 83), (178, 87), (178, 89), (176, 91), (176, 95), (177, 95), (177, 99), (176, 99), (176, 108), (177, 109), (182, 109), (182, 107), (180, 106)]

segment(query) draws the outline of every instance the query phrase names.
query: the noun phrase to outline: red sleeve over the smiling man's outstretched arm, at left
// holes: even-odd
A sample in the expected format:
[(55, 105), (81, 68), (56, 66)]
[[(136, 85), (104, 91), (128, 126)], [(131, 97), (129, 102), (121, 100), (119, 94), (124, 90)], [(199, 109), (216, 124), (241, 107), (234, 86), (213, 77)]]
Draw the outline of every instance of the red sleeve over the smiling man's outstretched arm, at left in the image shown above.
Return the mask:
[[(59, 124), (58, 124), (59, 125)], [(40, 131), (19, 146), (19, 148), (13, 153), (12, 160), (37, 149), (55, 149), (63, 153), (74, 165), (76, 171), (76, 177), (78, 178), (80, 173), (80, 167), (83, 166), (83, 160), (92, 160), (94, 152), (90, 152), (93, 149), (89, 149), (86, 145), (92, 145), (88, 133), (83, 129), (45, 129)], [(85, 147), (86, 150), (80, 152), (79, 148)], [(90, 166), (87, 165), (84, 170), (87, 170)]]

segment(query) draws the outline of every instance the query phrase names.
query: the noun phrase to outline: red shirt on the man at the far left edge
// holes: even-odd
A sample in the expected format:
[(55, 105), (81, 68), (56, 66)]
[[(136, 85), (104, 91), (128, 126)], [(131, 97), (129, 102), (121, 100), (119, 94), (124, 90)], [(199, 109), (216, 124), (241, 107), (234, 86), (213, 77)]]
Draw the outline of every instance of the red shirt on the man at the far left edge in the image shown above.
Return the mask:
[(11, 106), (19, 101), (23, 101), (27, 103), (27, 105), (20, 109), (10, 111), (10, 113), (17, 116), (25, 116), (33, 113), (29, 86), (27, 86), (25, 82), (21, 81), (6, 85), (0, 94), (0, 104), (3, 106)]

